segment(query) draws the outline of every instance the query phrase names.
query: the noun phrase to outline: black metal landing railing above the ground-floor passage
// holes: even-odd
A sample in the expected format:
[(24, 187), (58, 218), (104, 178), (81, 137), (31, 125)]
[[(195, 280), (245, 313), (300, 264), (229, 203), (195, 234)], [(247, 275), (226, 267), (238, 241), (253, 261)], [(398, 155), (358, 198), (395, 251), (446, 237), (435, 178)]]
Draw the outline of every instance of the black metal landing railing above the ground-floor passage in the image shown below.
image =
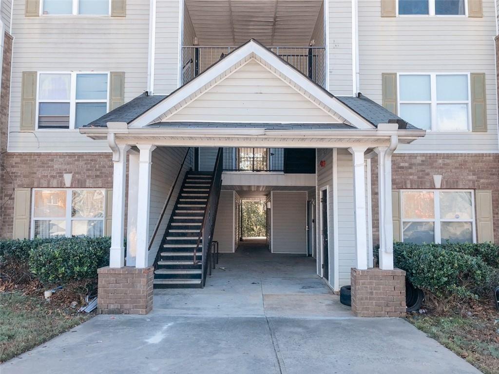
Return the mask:
[(282, 172), (283, 148), (224, 148), (224, 171)]

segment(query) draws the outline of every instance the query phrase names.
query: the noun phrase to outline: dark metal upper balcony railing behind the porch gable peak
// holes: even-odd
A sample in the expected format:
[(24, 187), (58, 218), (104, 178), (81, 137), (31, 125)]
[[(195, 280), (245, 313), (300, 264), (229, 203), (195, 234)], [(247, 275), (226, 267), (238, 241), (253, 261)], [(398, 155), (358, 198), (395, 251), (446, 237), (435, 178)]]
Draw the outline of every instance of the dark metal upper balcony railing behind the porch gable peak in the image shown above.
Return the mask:
[[(182, 84), (220, 61), (237, 47), (182, 47)], [(268, 47), (284, 61), (315, 83), (325, 87), (326, 49), (324, 47)]]

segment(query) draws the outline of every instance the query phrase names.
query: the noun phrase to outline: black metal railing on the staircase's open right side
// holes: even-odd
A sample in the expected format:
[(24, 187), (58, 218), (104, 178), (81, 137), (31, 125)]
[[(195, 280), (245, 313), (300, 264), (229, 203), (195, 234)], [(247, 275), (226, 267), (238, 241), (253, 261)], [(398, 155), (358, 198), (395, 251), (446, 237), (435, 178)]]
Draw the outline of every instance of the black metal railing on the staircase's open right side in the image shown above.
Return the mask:
[[(213, 241), (213, 232), (215, 230), (215, 221), (217, 219), (218, 203), (220, 199), (220, 191), (222, 190), (222, 172), (223, 172), (224, 149), (219, 148), (217, 153), (217, 160), (213, 169), (213, 177), (206, 202), (205, 214), (203, 216), (203, 223), (201, 231), (198, 236), (198, 241), (193, 253), (193, 263), (198, 265), (201, 263), (201, 286), (206, 284), (206, 275), (208, 272), (209, 258), (211, 257), (211, 248)], [(201, 261), (196, 259), (197, 253), (201, 252)]]

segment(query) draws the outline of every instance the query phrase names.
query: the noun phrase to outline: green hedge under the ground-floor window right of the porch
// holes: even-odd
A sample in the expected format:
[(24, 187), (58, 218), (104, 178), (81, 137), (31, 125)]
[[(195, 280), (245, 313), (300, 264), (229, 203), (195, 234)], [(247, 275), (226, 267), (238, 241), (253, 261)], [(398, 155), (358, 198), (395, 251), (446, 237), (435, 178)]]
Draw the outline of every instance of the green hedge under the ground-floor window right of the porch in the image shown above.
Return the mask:
[(439, 312), (477, 299), (499, 283), (499, 246), (485, 244), (394, 243), (394, 265), (423, 291)]

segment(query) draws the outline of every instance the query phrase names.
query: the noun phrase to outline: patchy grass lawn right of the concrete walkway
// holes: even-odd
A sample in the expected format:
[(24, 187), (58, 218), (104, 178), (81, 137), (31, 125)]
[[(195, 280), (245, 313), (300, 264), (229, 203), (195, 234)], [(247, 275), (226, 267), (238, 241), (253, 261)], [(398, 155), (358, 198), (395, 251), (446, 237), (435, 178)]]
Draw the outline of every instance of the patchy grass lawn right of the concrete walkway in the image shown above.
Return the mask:
[(486, 374), (499, 374), (499, 315), (408, 316), (408, 321)]

